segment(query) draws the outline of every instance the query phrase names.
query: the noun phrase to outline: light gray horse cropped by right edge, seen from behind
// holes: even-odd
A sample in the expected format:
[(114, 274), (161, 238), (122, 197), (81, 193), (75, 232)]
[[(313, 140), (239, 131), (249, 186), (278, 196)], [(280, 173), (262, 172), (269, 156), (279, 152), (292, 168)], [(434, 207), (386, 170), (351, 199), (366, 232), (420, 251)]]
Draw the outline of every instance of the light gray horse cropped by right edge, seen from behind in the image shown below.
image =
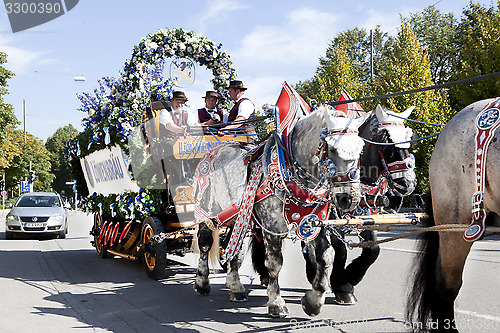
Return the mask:
[[(430, 202), (426, 205), (428, 218), (424, 226), (462, 224), (465, 227), (481, 212), (486, 226), (500, 225), (500, 133), (493, 130), (489, 134), (492, 136), (488, 136), (482, 132), (484, 128), (498, 126), (499, 106), (498, 98), (470, 104), (441, 131), (429, 164)], [(477, 135), (478, 140), (476, 132), (482, 133)], [(489, 146), (476, 149), (476, 141), (484, 138), (491, 140)], [(479, 163), (481, 158), (486, 159), (484, 163)], [(484, 180), (484, 188), (478, 190), (477, 179)], [(480, 205), (473, 207), (471, 201)], [(423, 234), (418, 246), (421, 254), (415, 257), (414, 270), (410, 272), (413, 283), (406, 304), (406, 320), (412, 327), (458, 332), (454, 302), (473, 244), (464, 239), (468, 236), (467, 231)]]

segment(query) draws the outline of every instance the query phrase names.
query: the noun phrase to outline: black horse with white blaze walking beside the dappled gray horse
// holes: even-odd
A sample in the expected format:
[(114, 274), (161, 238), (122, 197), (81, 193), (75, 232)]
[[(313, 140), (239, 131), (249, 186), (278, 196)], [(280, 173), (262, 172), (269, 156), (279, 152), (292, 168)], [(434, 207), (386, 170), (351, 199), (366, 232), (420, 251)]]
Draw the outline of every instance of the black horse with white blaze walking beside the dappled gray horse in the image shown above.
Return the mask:
[[(372, 191), (374, 196), (383, 195), (388, 191), (391, 195), (404, 197), (415, 189), (415, 161), (413, 155), (408, 152), (413, 132), (403, 123), (413, 109), (414, 107), (410, 107), (402, 113), (395, 113), (378, 105), (375, 112), (372, 112), (359, 128), (360, 136), (367, 139), (360, 157), (360, 179), (363, 184), (375, 189)], [(377, 188), (382, 187), (384, 181), (387, 182), (387, 187)], [(337, 304), (354, 305), (357, 302), (354, 286), (361, 282), (368, 268), (378, 258), (380, 248), (378, 245), (363, 248), (360, 256), (346, 267), (347, 246), (337, 236), (343, 238), (345, 232), (338, 230), (337, 234), (330, 234), (330, 242), (335, 251), (330, 288), (335, 294)], [(359, 236), (366, 241), (377, 240), (376, 233), (371, 230), (363, 230)], [(314, 279), (316, 258), (308, 244), (303, 242), (302, 246), (305, 249), (303, 256), (306, 261), (306, 275), (311, 282)], [(256, 262), (255, 266), (258, 266)]]

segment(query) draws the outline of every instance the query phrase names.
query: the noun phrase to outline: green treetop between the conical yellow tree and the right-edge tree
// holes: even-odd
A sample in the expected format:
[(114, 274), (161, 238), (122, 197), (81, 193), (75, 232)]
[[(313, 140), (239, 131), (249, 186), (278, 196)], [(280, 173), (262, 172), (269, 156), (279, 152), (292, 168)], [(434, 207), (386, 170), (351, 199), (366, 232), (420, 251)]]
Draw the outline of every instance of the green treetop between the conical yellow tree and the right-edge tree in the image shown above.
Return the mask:
[(458, 57), (458, 21), (453, 13), (441, 14), (434, 5), (409, 19), (420, 46), (429, 54), (431, 75), (436, 84), (447, 82)]

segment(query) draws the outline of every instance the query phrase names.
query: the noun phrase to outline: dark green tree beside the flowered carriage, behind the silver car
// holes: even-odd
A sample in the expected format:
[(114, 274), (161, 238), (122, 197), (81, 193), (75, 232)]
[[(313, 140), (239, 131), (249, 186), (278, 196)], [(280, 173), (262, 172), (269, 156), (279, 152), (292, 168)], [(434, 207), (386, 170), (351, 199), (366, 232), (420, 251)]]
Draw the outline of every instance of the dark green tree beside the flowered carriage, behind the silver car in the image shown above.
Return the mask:
[(50, 152), (51, 173), (55, 176), (52, 188), (58, 193), (64, 190), (67, 196), (73, 196), (73, 190), (66, 185), (72, 181), (71, 166), (64, 155), (64, 147), (78, 135), (78, 130), (69, 124), (59, 128), (45, 143), (45, 148)]

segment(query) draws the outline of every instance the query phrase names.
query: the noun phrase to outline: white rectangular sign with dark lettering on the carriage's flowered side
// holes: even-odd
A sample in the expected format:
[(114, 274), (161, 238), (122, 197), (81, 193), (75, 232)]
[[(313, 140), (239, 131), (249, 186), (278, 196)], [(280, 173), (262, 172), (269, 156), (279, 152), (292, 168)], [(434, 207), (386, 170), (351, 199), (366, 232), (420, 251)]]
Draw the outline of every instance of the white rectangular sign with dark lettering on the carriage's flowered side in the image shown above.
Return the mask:
[(139, 186), (131, 179), (127, 157), (118, 146), (96, 151), (80, 159), (89, 192), (102, 195), (139, 191)]

